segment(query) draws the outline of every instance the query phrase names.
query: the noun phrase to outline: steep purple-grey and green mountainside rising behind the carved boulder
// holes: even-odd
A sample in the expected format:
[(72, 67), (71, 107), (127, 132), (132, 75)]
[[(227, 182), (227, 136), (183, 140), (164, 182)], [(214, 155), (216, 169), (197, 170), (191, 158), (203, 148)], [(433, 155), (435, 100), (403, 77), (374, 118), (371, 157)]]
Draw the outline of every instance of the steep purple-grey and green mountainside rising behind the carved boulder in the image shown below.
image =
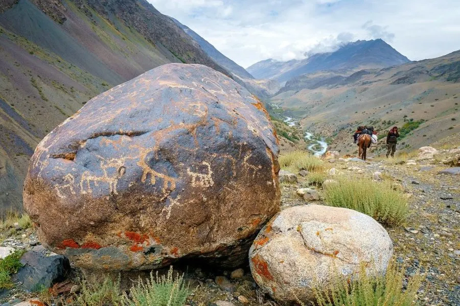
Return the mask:
[(35, 146), (87, 100), (159, 65), (215, 63), (144, 0), (0, 1), (0, 214)]

